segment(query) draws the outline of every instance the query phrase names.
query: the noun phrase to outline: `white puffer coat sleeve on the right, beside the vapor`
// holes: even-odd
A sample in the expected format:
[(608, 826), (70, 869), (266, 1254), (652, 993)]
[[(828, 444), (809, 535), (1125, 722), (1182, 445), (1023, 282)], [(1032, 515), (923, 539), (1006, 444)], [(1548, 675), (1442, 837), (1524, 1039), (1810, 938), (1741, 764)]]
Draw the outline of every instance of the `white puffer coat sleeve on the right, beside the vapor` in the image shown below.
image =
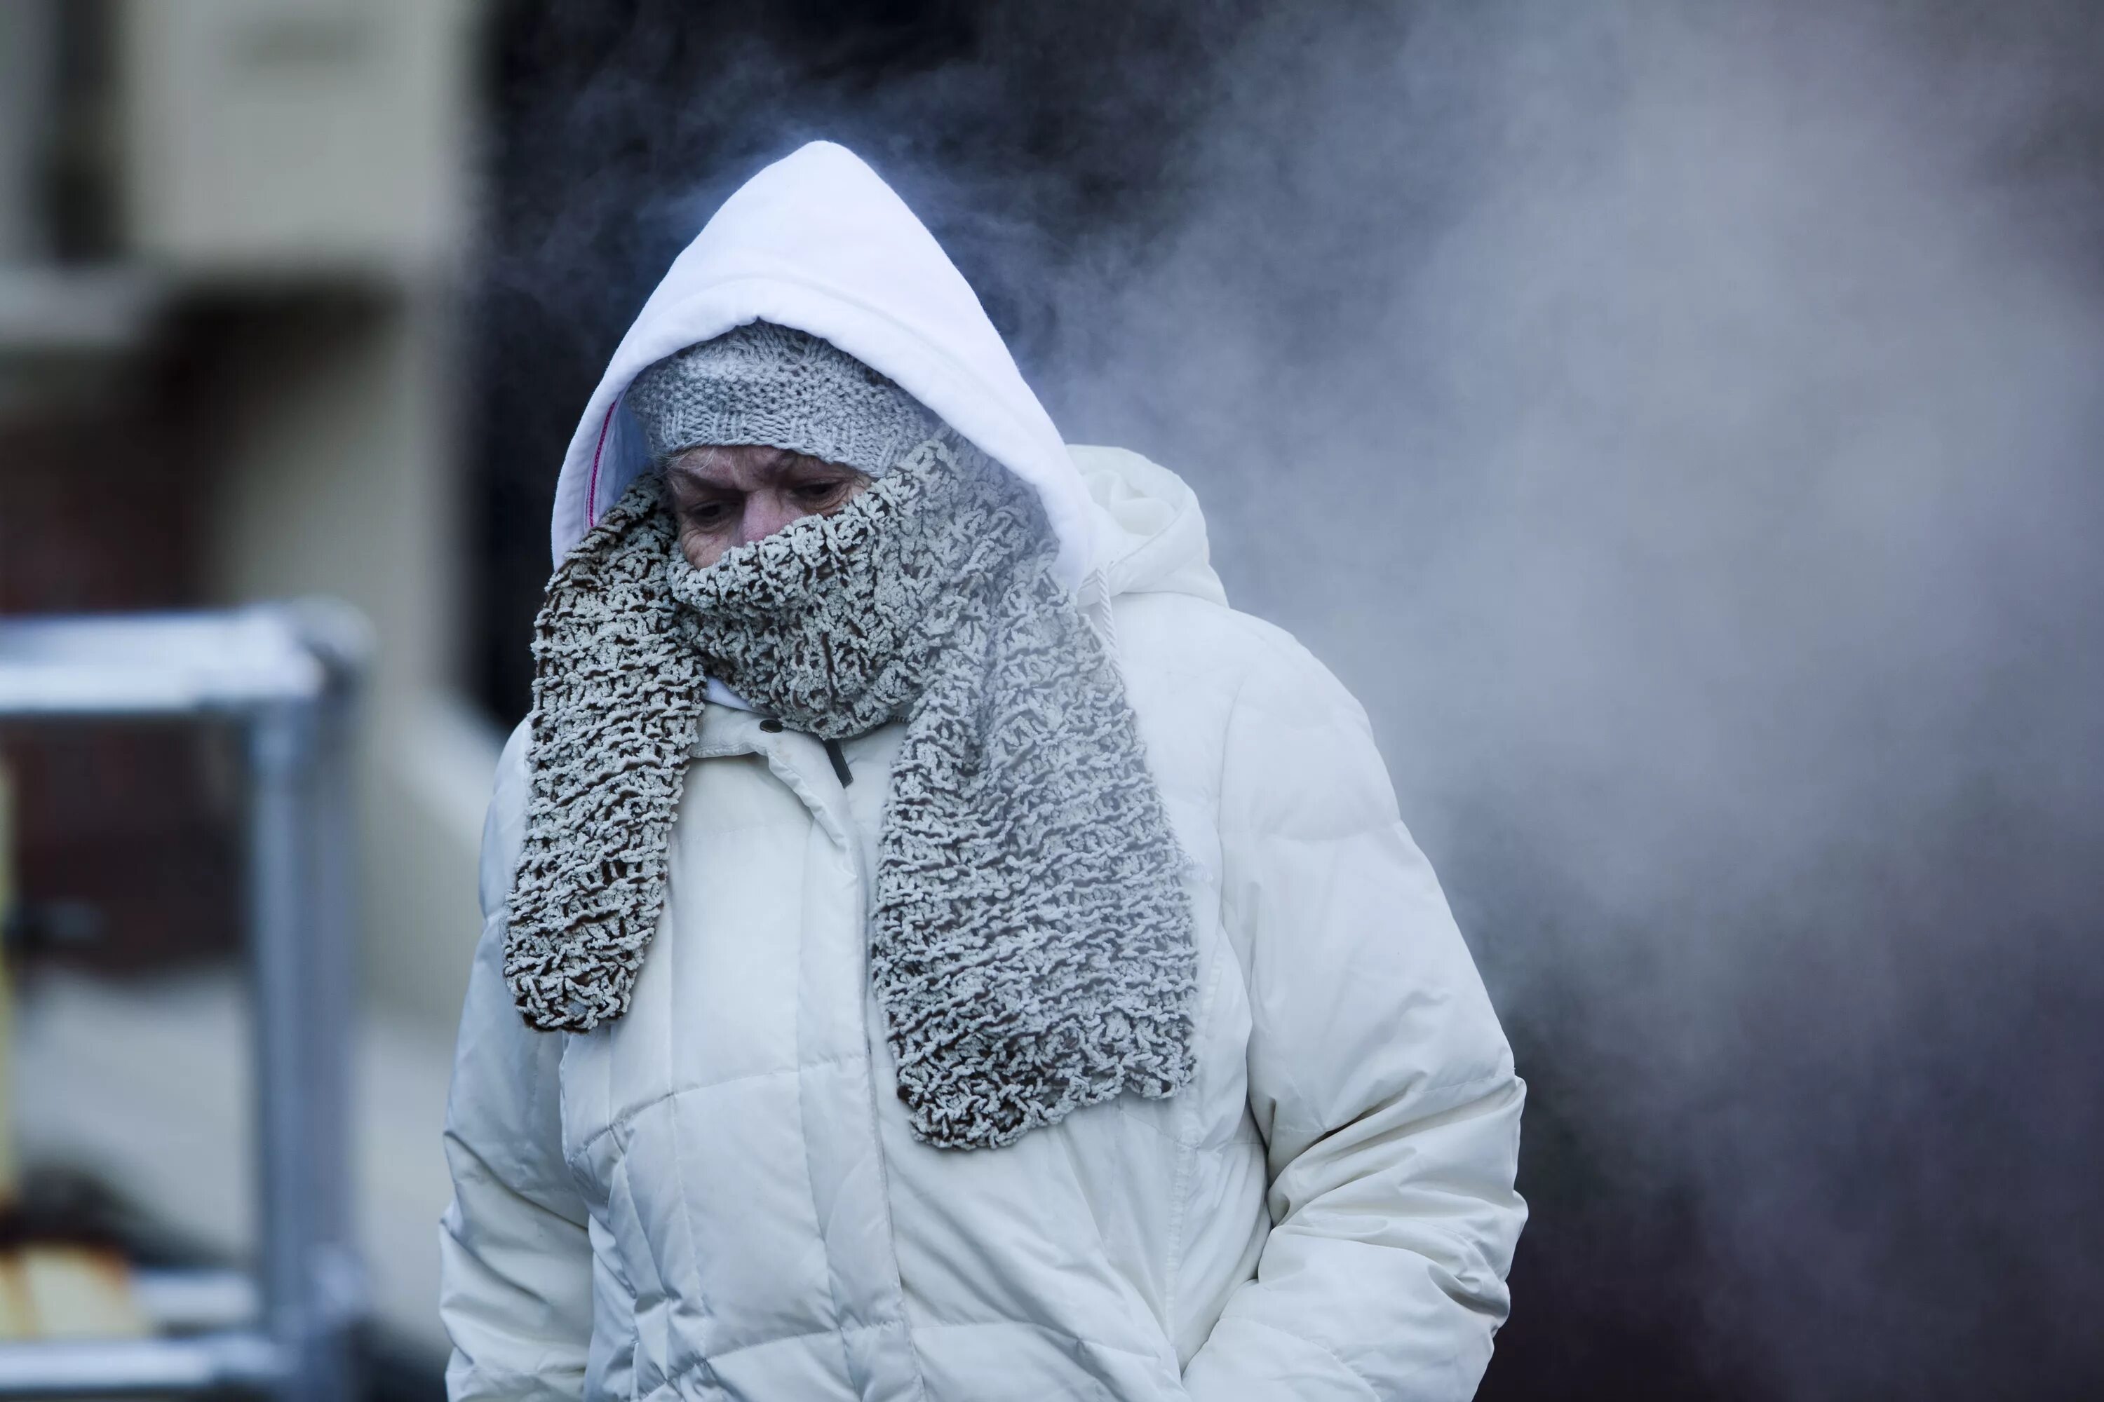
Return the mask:
[(1525, 1087), (1365, 713), (1277, 641), (1220, 776), (1271, 1234), (1197, 1402), (1460, 1400), (1506, 1314)]

